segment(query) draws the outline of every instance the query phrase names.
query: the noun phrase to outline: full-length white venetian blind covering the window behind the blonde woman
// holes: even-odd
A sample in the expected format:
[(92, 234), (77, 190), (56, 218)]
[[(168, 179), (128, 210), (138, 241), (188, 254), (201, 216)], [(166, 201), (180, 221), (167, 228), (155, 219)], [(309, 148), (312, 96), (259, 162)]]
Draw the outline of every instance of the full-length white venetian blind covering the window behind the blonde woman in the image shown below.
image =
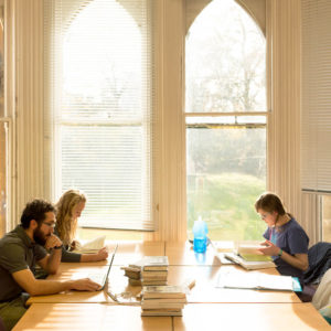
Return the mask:
[(79, 225), (153, 229), (148, 0), (45, 0), (45, 107), (58, 194), (87, 195)]

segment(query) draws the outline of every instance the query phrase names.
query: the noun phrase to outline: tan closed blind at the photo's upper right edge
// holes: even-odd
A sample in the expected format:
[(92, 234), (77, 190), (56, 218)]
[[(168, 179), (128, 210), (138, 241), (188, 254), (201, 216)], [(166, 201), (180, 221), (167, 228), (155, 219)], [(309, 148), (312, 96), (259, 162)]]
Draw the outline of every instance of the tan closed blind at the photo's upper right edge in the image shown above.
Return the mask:
[(301, 182), (331, 192), (331, 1), (302, 0)]

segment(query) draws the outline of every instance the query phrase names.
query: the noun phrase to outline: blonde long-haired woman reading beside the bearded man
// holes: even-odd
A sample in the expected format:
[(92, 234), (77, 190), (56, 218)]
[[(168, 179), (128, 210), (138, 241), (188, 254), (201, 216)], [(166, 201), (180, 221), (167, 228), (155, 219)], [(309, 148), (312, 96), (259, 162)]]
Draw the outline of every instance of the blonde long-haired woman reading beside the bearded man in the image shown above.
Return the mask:
[(97, 261), (108, 257), (106, 247), (102, 248), (96, 254), (77, 254), (70, 252), (76, 246), (74, 241), (77, 220), (81, 217), (85, 209), (86, 196), (78, 190), (68, 190), (60, 197), (56, 207), (56, 227), (55, 234), (63, 243), (62, 261), (78, 263), (78, 261)]

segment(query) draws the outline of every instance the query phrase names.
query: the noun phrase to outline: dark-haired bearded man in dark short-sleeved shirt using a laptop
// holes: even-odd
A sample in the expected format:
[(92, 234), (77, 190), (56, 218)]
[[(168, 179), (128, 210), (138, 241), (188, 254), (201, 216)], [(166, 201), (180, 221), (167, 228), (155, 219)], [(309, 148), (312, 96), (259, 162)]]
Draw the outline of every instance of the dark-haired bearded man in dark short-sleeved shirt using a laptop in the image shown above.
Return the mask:
[(21, 224), (0, 239), (0, 317), (11, 330), (26, 311), (23, 293), (53, 295), (66, 290), (96, 291), (100, 286), (88, 278), (46, 280), (34, 277), (35, 263), (56, 274), (63, 244), (54, 235), (55, 206), (44, 200), (29, 202)]

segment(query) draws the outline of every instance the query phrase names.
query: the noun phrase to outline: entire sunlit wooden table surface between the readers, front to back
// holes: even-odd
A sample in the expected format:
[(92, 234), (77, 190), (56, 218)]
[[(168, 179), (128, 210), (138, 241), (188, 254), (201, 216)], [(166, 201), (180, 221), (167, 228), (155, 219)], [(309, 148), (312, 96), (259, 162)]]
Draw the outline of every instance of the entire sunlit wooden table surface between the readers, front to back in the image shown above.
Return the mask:
[[(110, 243), (110, 249), (115, 244)], [(164, 255), (170, 261), (168, 284), (181, 285), (194, 278), (195, 287), (188, 293), (183, 317), (141, 317), (135, 295), (140, 287), (128, 286), (120, 265), (145, 255)], [(53, 296), (32, 297), (33, 303), (13, 330), (330, 330), (330, 325), (310, 303), (301, 303), (290, 291), (267, 291), (216, 288), (218, 274), (226, 270), (252, 273), (235, 265), (222, 265), (214, 250), (196, 259), (188, 243), (120, 243), (117, 264), (111, 267), (109, 288), (121, 298), (135, 299), (118, 305), (107, 295), (68, 291)], [(50, 279), (71, 279), (81, 273), (107, 268), (99, 264), (61, 264)], [(258, 273), (278, 275), (275, 268)], [(122, 300), (124, 301), (124, 300)], [(41, 305), (42, 303), (42, 305)], [(103, 305), (102, 305), (103, 303)]]

